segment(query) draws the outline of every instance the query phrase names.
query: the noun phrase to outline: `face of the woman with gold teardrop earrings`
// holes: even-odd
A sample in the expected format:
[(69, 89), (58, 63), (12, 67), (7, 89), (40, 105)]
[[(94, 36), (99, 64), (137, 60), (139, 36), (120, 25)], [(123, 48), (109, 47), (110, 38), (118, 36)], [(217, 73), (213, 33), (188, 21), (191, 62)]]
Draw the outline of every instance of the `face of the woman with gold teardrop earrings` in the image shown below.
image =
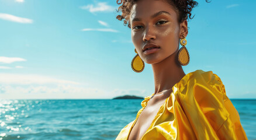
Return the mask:
[[(153, 16), (160, 11), (161, 14)], [(179, 47), (177, 16), (175, 9), (161, 0), (140, 0), (133, 5), (130, 13), (132, 41), (144, 62), (155, 64), (175, 53)], [(149, 43), (160, 48), (148, 54), (143, 47)]]

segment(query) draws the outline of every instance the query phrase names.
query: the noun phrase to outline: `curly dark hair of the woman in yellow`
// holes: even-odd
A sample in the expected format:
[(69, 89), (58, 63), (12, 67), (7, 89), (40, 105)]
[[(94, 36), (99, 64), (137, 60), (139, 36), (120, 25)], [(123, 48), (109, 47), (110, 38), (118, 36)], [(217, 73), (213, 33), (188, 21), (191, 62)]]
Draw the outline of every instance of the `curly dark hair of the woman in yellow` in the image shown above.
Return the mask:
[[(134, 3), (137, 1), (139, 1), (139, 0), (116, 0), (116, 3), (118, 5), (122, 4), (121, 6), (119, 6), (118, 10), (116, 10), (117, 12), (119, 12), (119, 10), (121, 10), (122, 15), (117, 15), (116, 19), (118, 19), (118, 20), (124, 19), (123, 20), (124, 26), (126, 26), (127, 22), (128, 22), (128, 27), (131, 28), (130, 22), (129, 22), (130, 11), (131, 11)], [(164, 1), (168, 2), (170, 5), (174, 6), (174, 8), (176, 8), (176, 10), (178, 12), (178, 22), (179, 23), (183, 22), (184, 20), (187, 20), (188, 17), (190, 19), (193, 19), (193, 17), (195, 16), (194, 15), (193, 17), (191, 17), (191, 10), (193, 7), (198, 5), (198, 2), (196, 2), (196, 1), (193, 1), (193, 0), (164, 0)], [(206, 2), (209, 3), (208, 0), (206, 0)]]

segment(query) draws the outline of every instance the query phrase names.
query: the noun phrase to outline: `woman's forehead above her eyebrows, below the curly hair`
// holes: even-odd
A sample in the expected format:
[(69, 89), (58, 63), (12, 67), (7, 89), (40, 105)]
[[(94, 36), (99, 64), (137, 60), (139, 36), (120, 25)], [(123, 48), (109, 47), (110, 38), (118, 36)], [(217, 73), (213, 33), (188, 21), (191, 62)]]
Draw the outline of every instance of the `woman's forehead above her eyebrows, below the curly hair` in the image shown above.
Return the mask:
[(151, 18), (160, 11), (165, 11), (161, 13), (166, 15), (169, 13), (169, 16), (177, 17), (174, 7), (163, 0), (139, 0), (132, 6), (130, 21)]

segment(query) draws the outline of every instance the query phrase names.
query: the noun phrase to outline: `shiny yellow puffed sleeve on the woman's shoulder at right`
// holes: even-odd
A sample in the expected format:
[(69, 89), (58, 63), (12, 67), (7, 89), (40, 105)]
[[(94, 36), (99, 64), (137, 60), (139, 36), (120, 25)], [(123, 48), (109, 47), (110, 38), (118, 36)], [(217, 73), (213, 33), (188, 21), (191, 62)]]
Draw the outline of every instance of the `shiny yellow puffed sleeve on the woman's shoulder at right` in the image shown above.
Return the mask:
[(236, 108), (212, 71), (191, 72), (172, 90), (167, 109), (175, 115), (178, 139), (247, 139)]

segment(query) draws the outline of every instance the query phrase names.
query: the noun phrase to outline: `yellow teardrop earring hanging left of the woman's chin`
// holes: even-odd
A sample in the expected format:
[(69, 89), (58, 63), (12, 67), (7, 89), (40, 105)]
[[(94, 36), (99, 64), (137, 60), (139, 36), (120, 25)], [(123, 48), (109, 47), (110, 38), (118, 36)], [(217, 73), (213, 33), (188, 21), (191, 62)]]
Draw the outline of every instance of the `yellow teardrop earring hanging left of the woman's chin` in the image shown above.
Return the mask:
[(144, 67), (145, 67), (145, 64), (144, 62), (141, 60), (139, 54), (137, 53), (136, 49), (134, 49), (136, 55), (135, 57), (133, 58), (132, 60), (132, 69), (134, 72), (142, 72)]

